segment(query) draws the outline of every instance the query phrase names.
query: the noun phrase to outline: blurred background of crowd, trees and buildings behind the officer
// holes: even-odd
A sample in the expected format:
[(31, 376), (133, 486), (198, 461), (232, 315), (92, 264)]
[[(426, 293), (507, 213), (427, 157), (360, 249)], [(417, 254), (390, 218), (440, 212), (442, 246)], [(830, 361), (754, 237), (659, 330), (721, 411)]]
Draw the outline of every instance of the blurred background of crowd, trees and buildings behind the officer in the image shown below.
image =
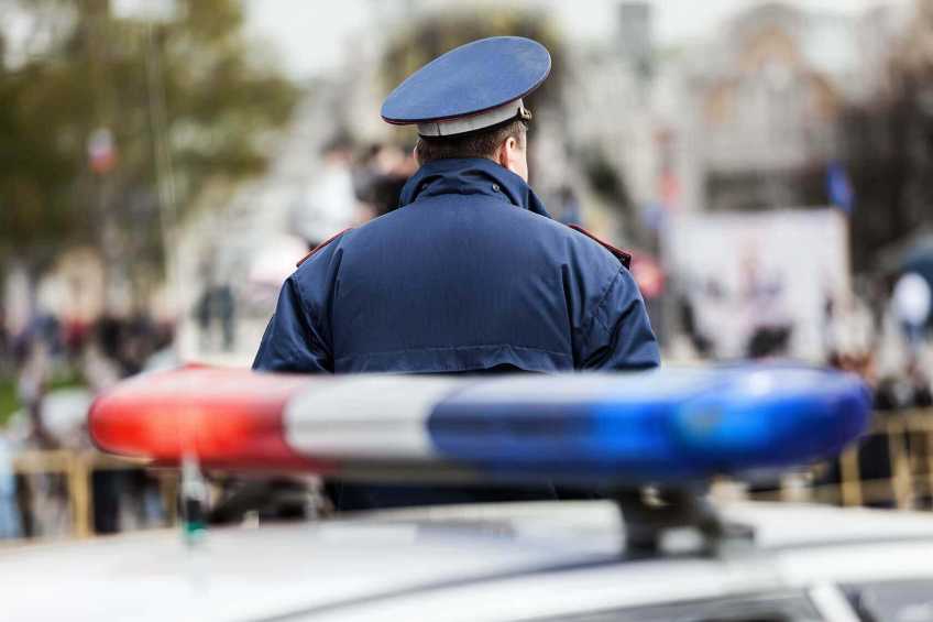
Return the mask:
[(806, 494), (931, 506), (933, 0), (0, 0), (0, 538), (174, 520), (88, 404), (249, 365), (308, 245), (415, 172), (385, 95), (497, 34), (550, 50), (531, 186), (634, 251), (666, 361), (864, 375), (889, 416)]

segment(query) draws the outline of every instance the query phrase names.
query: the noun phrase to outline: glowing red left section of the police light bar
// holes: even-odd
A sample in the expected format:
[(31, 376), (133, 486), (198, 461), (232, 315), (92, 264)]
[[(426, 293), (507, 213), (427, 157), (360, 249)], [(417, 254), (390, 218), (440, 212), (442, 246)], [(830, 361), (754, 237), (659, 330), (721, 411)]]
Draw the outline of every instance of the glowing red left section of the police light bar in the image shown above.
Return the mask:
[(134, 378), (95, 401), (90, 436), (111, 454), (205, 467), (332, 472), (285, 443), (283, 411), (314, 379), (189, 367)]

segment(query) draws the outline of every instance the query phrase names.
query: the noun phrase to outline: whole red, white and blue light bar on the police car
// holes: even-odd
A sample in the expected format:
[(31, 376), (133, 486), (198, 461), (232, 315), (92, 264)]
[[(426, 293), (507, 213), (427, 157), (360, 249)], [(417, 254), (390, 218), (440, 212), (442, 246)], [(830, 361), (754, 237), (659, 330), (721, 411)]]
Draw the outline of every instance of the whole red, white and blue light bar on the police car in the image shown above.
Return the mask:
[(186, 368), (90, 411), (105, 451), (409, 481), (684, 483), (836, 456), (869, 423), (850, 374), (801, 367), (303, 377)]

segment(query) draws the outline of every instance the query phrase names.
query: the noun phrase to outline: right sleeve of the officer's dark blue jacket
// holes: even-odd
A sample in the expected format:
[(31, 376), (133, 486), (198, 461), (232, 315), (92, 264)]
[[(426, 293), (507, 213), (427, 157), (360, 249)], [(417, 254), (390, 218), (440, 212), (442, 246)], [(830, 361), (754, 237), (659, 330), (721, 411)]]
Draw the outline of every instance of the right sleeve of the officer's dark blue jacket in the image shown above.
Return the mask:
[(625, 268), (605, 287), (584, 325), (579, 369), (640, 370), (660, 364), (645, 301)]

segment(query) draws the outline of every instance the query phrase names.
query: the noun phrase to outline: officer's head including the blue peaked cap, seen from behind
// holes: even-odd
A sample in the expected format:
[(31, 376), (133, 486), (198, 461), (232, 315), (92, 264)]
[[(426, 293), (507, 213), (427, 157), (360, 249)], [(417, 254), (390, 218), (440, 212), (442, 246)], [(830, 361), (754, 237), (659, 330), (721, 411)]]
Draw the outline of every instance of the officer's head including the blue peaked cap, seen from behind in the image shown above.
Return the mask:
[(481, 39), (435, 58), (382, 105), (382, 118), (416, 124), (419, 164), (485, 157), (528, 181), (525, 133), (531, 113), (523, 98), (548, 77), (544, 45), (520, 36)]

